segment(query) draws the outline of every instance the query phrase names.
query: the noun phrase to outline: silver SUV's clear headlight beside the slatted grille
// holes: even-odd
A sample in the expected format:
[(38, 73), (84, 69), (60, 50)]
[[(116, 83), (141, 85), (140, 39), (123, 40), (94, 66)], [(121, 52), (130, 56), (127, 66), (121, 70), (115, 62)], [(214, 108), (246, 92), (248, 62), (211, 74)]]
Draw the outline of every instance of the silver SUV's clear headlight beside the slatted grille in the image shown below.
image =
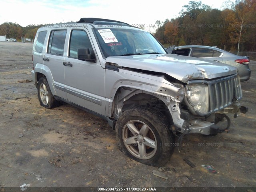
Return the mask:
[(187, 86), (186, 97), (195, 111), (200, 114), (208, 112), (209, 94), (207, 85), (189, 84)]

